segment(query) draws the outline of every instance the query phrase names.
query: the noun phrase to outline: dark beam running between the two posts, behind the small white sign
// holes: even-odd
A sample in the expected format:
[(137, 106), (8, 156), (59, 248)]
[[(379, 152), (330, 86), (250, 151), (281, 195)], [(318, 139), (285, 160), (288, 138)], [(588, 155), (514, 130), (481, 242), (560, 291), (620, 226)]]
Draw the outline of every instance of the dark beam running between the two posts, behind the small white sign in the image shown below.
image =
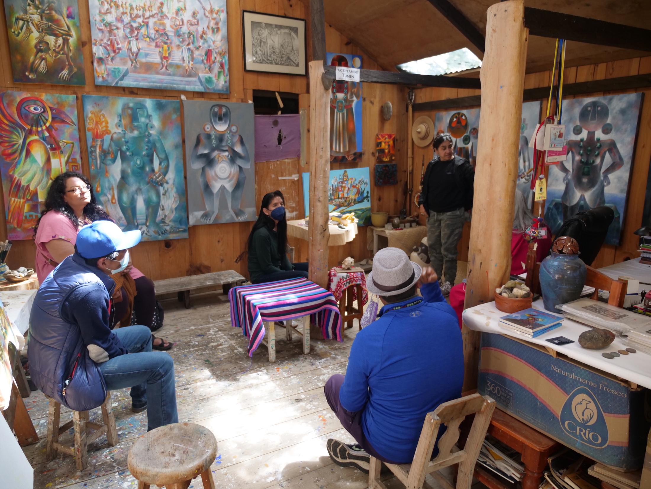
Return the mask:
[[(335, 67), (327, 66), (324, 73), (324, 85), (335, 79)], [(445, 87), (445, 88), (468, 88), (480, 89), (481, 83), (478, 78), (454, 78), (451, 76), (439, 75), (416, 75), (413, 73), (380, 71), (380, 70), (359, 70), (359, 81), (369, 83), (393, 83), (395, 85), (408, 85), (410, 87)]]

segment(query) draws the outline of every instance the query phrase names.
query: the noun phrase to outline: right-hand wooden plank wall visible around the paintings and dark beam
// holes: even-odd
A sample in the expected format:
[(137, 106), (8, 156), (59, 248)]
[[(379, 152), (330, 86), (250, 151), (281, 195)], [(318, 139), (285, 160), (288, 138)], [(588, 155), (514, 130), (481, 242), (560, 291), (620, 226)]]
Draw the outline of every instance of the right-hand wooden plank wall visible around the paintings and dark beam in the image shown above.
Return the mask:
[[(564, 83), (589, 82), (591, 80), (604, 80), (617, 78), (619, 76), (630, 76), (637, 74), (651, 73), (651, 56), (620, 61), (599, 63), (598, 65), (585, 65), (580, 67), (567, 68), (564, 73)], [(536, 72), (525, 76), (525, 89), (547, 87), (551, 83), (551, 70)], [(586, 96), (615, 95), (617, 93), (631, 93), (634, 90), (609, 91), (589, 93), (585, 95), (570, 96), (568, 98), (584, 98)], [(644, 207), (644, 193), (646, 192), (646, 179), (648, 177), (649, 162), (651, 160), (651, 87), (638, 89), (643, 92), (642, 115), (640, 118), (639, 132), (637, 136), (637, 147), (635, 148), (633, 168), (631, 169), (628, 201), (626, 203), (626, 214), (622, 230), (622, 241), (619, 246), (604, 244), (592, 267), (600, 268), (613, 263), (619, 263), (627, 258), (636, 258), (638, 248), (638, 237), (633, 231), (642, 226), (642, 213)], [(456, 98), (460, 96), (478, 95), (478, 90), (447, 89), (447, 88), (424, 88), (416, 90), (415, 102), (427, 102), (430, 100), (443, 100), (445, 98)], [(546, 112), (546, 102), (543, 100), (543, 113)], [(460, 108), (461, 109), (461, 108)], [(466, 108), (467, 109), (467, 108)], [(446, 109), (449, 111), (453, 109)], [(553, 110), (553, 108), (552, 108)], [(418, 111), (414, 113), (414, 119), (419, 115), (429, 115), (434, 119), (436, 112)], [(498, 123), (498, 121), (496, 121)], [(419, 188), (421, 179), (421, 160), (425, 162), (432, 158), (432, 147), (415, 147), (414, 151), (414, 192)], [(464, 235), (459, 243), (459, 259), (467, 260), (470, 235), (470, 223), (464, 229)]]

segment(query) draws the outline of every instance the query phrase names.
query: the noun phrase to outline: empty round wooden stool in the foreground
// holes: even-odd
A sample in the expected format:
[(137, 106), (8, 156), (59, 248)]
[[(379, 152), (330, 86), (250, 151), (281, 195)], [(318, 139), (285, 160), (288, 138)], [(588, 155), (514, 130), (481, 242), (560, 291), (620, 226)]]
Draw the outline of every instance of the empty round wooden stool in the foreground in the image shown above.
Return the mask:
[(186, 489), (201, 475), (204, 489), (215, 489), (210, 466), (217, 454), (215, 436), (199, 424), (176, 422), (141, 436), (131, 447), (127, 466), (138, 489), (150, 484)]

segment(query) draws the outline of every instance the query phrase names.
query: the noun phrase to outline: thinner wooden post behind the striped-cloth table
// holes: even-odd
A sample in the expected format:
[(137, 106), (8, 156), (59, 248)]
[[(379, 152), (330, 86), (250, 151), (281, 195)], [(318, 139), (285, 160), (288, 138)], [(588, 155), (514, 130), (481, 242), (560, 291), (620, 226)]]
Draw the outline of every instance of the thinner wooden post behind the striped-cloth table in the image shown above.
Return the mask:
[(310, 219), (307, 258), (310, 263), (310, 280), (327, 288), (327, 242), (330, 237), (327, 199), (330, 174), (330, 91), (321, 83), (323, 74), (323, 60), (311, 61)]

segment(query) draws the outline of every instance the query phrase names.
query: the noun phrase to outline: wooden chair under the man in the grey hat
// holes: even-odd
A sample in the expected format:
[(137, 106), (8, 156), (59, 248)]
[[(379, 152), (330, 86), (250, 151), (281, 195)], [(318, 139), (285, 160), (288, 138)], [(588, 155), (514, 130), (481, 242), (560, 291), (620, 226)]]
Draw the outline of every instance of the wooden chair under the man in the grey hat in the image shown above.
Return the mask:
[[(439, 470), (458, 464), (456, 478), (457, 489), (470, 489), (473, 484), (473, 470), (475, 462), (482, 447), (486, 430), (490, 422), (495, 401), (480, 394), (471, 394), (460, 399), (441, 404), (436, 411), (428, 413), (422, 425), (421, 437), (418, 440), (416, 452), (411, 464), (394, 465), (385, 464), (405, 484), (407, 489), (420, 489), (425, 481), (425, 476), (432, 474), (441, 486), (454, 489), (445, 477), (438, 473)], [(468, 438), (463, 450), (456, 447), (459, 439), (459, 425), (468, 415), (475, 414), (475, 419), (470, 428)], [(447, 426), (447, 431), (439, 439), (439, 454), (432, 458), (436, 436), (441, 424)], [(370, 472), (368, 474), (369, 489), (387, 489), (380, 481), (382, 462), (377, 458), (370, 458)]]

